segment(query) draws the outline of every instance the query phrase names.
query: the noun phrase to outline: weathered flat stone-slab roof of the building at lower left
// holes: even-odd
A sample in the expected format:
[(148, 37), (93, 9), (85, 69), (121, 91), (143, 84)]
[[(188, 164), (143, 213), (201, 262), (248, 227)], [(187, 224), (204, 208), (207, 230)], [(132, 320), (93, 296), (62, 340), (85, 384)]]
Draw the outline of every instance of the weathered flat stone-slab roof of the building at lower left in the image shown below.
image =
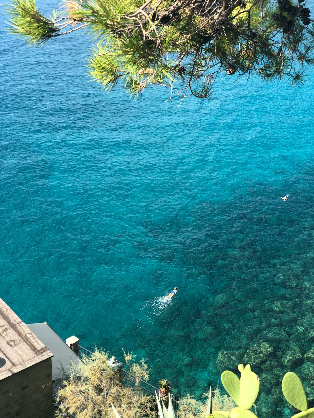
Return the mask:
[(49, 349), (0, 298), (0, 380), (50, 357)]

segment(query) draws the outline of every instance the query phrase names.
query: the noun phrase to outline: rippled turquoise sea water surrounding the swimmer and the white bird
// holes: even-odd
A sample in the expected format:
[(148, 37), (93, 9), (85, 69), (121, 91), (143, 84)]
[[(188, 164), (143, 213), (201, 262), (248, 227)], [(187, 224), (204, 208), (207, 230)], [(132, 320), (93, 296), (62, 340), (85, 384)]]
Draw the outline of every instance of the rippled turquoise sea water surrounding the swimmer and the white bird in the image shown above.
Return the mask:
[(88, 82), (84, 35), (32, 50), (3, 21), (1, 298), (144, 355), (177, 393), (215, 385), (226, 350), (255, 361), (264, 398), (288, 370), (314, 392), (314, 72), (301, 89), (222, 77), (203, 107), (133, 102)]

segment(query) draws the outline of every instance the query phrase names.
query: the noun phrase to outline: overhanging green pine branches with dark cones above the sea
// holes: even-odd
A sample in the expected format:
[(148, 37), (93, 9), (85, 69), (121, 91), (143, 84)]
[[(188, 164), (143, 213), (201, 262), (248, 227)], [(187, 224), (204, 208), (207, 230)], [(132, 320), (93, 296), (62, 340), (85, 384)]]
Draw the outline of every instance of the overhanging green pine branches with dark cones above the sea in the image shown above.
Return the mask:
[(90, 76), (135, 98), (160, 85), (170, 99), (208, 99), (221, 71), (300, 84), (314, 62), (304, 0), (66, 0), (52, 18), (34, 0), (11, 0), (7, 11), (10, 32), (30, 45), (88, 29)]

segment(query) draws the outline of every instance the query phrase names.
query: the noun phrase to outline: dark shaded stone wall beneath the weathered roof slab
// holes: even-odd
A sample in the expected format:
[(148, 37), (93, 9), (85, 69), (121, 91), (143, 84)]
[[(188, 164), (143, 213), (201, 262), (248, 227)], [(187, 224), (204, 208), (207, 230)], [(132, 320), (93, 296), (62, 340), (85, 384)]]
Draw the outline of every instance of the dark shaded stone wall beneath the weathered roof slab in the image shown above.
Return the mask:
[(53, 415), (51, 358), (0, 380), (1, 418)]

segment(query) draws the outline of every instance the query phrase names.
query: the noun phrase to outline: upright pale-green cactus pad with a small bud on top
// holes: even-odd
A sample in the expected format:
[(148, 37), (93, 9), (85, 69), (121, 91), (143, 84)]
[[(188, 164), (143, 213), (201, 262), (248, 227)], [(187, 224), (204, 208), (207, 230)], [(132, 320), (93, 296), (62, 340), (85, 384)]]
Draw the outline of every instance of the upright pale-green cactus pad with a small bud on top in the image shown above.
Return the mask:
[(251, 372), (250, 364), (245, 366), (240, 379), (240, 402), (239, 407), (250, 409), (255, 402), (260, 389), (260, 380), (255, 373)]

